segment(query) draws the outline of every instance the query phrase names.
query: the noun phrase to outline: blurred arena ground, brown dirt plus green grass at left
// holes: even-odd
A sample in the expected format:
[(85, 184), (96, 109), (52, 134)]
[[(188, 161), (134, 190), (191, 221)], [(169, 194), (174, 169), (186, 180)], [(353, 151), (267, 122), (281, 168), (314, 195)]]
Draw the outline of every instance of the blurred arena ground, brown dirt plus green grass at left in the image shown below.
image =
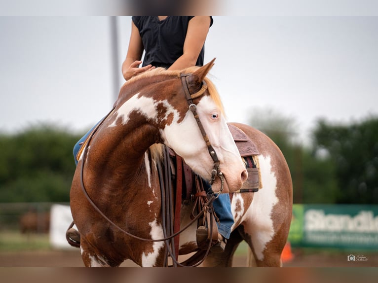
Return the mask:
[[(378, 267), (378, 252), (321, 248), (292, 248), (284, 267)], [(355, 255), (350, 260), (349, 255)], [(358, 260), (360, 259), (366, 260)], [(364, 258), (362, 258), (362, 256)], [(184, 260), (186, 256), (181, 256)], [(349, 260), (348, 260), (349, 259)], [(233, 266), (246, 267), (247, 245), (235, 252)], [(78, 248), (54, 249), (46, 234), (0, 233), (0, 267), (83, 267)], [(121, 267), (137, 267), (126, 260)]]

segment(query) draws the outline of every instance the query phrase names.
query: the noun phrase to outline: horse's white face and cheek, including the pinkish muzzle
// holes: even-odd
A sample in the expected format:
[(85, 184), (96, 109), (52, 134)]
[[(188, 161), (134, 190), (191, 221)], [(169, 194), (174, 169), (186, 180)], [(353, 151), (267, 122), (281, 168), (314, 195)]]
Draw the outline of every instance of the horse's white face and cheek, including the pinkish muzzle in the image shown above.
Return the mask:
[[(204, 96), (197, 104), (197, 113), (209, 141), (217, 153), (220, 161), (220, 169), (226, 177), (228, 189), (233, 191), (240, 189), (242, 185), (241, 176), (242, 172), (245, 172), (245, 167), (232, 135), (228, 130), (226, 119), (222, 111), (210, 96)], [(178, 144), (179, 141), (175, 141), (174, 138), (171, 138), (170, 142), (173, 143), (175, 141), (177, 147), (179, 147), (178, 150), (182, 151), (180, 154), (178, 150), (175, 149), (176, 152), (184, 158), (185, 162), (194, 172), (205, 179), (210, 179), (211, 170), (213, 169), (213, 160), (209, 155), (193, 114), (190, 111), (187, 112), (181, 125), (176, 125), (176, 127), (177, 129), (172, 125), (171, 128), (165, 130), (167, 136), (170, 134), (170, 131), (176, 131), (176, 139), (181, 139), (181, 144)], [(188, 129), (188, 131), (184, 132), (182, 129), (179, 129), (179, 127)], [(170, 136), (174, 135), (171, 134)], [(219, 190), (220, 182), (216, 182), (213, 189), (215, 191)]]

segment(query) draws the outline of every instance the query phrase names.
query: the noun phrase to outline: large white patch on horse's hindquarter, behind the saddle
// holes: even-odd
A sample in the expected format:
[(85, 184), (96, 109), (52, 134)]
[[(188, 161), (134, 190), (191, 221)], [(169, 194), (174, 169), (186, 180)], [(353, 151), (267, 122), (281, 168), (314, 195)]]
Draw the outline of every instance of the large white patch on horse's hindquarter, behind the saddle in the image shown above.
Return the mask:
[(252, 245), (257, 259), (264, 260), (264, 249), (266, 244), (274, 236), (273, 220), (271, 213), (273, 207), (278, 203), (276, 196), (277, 179), (272, 172), (270, 156), (259, 156), (259, 164), (263, 189), (255, 193), (253, 202), (244, 215), (244, 220), (250, 225), (245, 232), (251, 236)]

